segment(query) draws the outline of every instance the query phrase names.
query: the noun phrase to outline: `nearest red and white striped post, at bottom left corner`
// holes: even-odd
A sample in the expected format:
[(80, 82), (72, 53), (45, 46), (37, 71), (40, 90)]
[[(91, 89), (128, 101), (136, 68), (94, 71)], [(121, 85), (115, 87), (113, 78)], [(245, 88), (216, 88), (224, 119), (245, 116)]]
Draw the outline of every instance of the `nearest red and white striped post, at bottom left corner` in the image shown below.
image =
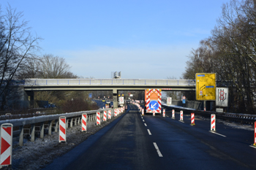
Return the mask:
[(11, 123), (1, 124), (0, 140), (0, 165), (9, 166), (12, 164), (12, 128)]

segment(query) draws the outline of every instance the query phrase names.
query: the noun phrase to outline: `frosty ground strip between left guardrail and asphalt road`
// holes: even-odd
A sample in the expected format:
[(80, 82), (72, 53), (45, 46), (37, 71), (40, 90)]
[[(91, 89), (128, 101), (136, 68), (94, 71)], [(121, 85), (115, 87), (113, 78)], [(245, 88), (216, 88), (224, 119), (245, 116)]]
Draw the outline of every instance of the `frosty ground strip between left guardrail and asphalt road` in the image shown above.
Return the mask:
[[(91, 134), (95, 134), (116, 118), (117, 117), (112, 117), (108, 122), (101, 123), (101, 125), (98, 126), (95, 123), (96, 120), (95, 122), (89, 122), (87, 123), (87, 132), (82, 132), (80, 130), (81, 125), (67, 128), (66, 143), (59, 143), (59, 133), (53, 132), (50, 136), (45, 135), (44, 139), (37, 138), (35, 142), (25, 142), (23, 147), (20, 147), (18, 144), (13, 144), (11, 169), (42, 169), (55, 158), (69, 152), (69, 150), (72, 150), (75, 146), (85, 141)], [(2, 169), (7, 169), (7, 167)]]

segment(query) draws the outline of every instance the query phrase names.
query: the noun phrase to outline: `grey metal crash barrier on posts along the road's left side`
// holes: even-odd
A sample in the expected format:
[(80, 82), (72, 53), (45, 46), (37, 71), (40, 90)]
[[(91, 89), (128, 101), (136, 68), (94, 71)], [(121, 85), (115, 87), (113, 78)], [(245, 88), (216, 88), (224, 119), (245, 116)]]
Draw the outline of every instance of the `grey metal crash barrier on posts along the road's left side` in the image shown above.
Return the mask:
[(20, 119), (12, 119), (12, 120), (1, 120), (0, 125), (4, 123), (11, 123), (14, 128), (19, 129), (13, 131), (13, 140), (19, 141), (19, 145), (23, 146), (23, 137), (25, 135), (29, 135), (31, 138), (31, 142), (35, 140), (36, 132), (39, 133), (39, 138), (43, 139), (45, 132), (48, 135), (52, 134), (52, 131), (58, 132), (59, 130), (59, 117), (65, 116), (67, 117), (67, 128), (72, 128), (73, 125), (80, 125), (82, 121), (82, 114), (87, 114), (87, 122), (97, 120), (97, 112), (100, 112), (100, 117), (103, 117), (105, 110), (111, 110), (111, 113), (114, 113), (114, 109), (98, 109), (91, 111), (83, 111), (83, 112), (72, 112), (72, 113), (64, 113), (59, 115), (43, 115), (39, 117), (28, 117), (28, 118), (20, 118)]

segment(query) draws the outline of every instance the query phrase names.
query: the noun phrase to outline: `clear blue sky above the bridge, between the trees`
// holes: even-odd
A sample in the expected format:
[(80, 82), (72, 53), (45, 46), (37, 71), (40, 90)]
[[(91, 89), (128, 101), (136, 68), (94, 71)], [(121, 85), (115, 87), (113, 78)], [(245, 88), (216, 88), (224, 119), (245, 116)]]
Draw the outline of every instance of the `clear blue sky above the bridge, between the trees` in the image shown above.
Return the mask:
[(229, 0), (1, 0), (43, 40), (38, 55), (66, 59), (81, 77), (182, 78), (192, 48), (211, 36)]

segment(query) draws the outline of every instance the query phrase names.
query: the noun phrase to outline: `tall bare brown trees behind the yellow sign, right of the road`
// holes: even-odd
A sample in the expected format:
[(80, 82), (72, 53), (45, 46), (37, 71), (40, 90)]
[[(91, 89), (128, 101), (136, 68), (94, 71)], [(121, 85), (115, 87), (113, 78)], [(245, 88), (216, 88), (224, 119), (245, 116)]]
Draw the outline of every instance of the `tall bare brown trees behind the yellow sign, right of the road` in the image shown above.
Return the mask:
[(230, 112), (255, 113), (256, 1), (223, 4), (211, 36), (188, 57), (184, 79), (217, 73), (217, 81), (229, 88)]

